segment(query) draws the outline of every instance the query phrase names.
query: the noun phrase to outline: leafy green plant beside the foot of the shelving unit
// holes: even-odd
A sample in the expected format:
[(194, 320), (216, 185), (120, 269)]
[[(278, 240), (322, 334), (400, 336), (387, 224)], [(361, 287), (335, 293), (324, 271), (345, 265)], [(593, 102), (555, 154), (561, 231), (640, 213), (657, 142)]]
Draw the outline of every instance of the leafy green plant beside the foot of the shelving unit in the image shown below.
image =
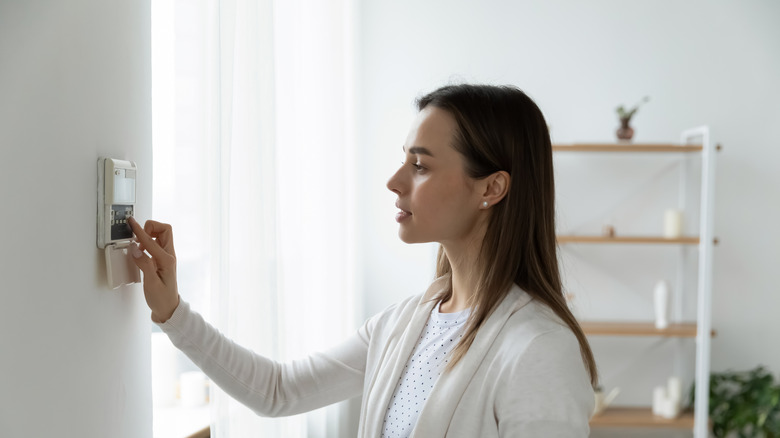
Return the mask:
[[(691, 385), (690, 406), (695, 386)], [(710, 376), (709, 415), (715, 437), (780, 437), (780, 384), (763, 366)]]

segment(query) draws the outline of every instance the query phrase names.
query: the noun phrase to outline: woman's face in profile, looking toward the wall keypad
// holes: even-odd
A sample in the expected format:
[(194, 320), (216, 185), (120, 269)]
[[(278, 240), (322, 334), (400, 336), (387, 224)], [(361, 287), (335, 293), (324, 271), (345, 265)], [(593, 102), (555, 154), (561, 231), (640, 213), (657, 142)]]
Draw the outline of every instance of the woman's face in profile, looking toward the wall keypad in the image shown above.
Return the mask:
[(425, 107), (406, 138), (404, 161), (387, 181), (398, 195), (398, 235), (406, 243), (465, 243), (476, 236), (482, 197), (478, 181), (466, 175), (452, 147), (457, 124), (452, 115)]

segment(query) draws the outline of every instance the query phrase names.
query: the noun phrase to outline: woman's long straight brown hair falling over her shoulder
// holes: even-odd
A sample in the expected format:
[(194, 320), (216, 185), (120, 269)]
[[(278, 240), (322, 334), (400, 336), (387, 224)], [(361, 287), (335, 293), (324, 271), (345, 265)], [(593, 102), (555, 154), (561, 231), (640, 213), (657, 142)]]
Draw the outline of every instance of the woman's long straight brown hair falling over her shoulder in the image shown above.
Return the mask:
[[(464, 157), (467, 175), (481, 179), (500, 170), (510, 175), (508, 193), (491, 207), (477, 261), (480, 277), (472, 311), (447, 369), (463, 357), (477, 330), (515, 283), (571, 328), (595, 387), (593, 352), (566, 305), (558, 270), (552, 146), (541, 110), (515, 87), (470, 84), (445, 86), (417, 99), (418, 110), (429, 105), (455, 118), (458, 129), (452, 146)], [(436, 276), (451, 271), (439, 246)], [(450, 285), (434, 299), (443, 302), (451, 296)]]

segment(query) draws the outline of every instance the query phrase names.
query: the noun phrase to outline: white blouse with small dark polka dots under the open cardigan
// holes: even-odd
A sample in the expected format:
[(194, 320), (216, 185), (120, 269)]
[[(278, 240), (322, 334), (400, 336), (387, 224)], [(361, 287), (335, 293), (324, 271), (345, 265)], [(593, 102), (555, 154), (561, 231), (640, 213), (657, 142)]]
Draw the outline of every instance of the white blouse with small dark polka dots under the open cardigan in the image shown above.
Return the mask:
[(383, 438), (407, 438), (412, 433), (428, 394), (463, 336), (468, 316), (469, 309), (457, 313), (439, 313), (439, 305), (433, 309), (390, 399)]

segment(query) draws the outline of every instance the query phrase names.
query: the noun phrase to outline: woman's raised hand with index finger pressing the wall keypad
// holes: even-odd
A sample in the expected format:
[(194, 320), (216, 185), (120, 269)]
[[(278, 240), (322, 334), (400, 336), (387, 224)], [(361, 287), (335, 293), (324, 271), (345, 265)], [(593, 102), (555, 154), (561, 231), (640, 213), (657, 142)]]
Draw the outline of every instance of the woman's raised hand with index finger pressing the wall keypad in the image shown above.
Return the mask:
[[(128, 220), (140, 246), (131, 244), (133, 260), (144, 273), (144, 296), (152, 309), (152, 321), (167, 321), (179, 306), (176, 286), (176, 252), (173, 249), (173, 229), (168, 224), (146, 221), (144, 227), (131, 217)], [(144, 249), (151, 257), (144, 253)]]

